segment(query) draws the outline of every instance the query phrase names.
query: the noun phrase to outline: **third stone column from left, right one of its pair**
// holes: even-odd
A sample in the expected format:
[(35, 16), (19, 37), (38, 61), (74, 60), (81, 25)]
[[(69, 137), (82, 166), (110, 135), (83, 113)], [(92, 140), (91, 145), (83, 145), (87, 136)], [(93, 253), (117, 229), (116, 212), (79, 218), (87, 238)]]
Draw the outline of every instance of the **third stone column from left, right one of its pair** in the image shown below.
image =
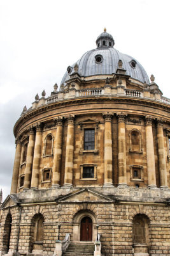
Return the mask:
[(34, 147), (34, 159), (32, 164), (31, 188), (38, 189), (39, 163), (41, 159), (42, 124), (36, 124), (36, 141)]

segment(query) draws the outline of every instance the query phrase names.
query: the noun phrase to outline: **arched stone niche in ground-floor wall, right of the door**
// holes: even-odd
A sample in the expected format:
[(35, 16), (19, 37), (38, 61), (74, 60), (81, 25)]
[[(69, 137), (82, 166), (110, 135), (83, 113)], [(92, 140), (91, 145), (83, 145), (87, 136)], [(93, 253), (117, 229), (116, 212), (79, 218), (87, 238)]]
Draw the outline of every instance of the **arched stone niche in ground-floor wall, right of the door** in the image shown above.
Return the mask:
[(134, 253), (148, 253), (148, 218), (145, 214), (137, 214), (133, 220)]

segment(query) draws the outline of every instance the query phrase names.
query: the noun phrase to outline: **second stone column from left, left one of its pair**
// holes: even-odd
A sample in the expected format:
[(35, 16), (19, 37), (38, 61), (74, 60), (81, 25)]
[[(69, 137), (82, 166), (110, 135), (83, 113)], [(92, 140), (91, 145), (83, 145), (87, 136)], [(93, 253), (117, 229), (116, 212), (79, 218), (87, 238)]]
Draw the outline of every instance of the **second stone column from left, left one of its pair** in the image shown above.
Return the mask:
[(32, 162), (34, 157), (34, 143), (35, 143), (34, 128), (33, 126), (31, 126), (29, 127), (29, 143), (27, 148), (24, 189), (29, 189), (31, 186)]

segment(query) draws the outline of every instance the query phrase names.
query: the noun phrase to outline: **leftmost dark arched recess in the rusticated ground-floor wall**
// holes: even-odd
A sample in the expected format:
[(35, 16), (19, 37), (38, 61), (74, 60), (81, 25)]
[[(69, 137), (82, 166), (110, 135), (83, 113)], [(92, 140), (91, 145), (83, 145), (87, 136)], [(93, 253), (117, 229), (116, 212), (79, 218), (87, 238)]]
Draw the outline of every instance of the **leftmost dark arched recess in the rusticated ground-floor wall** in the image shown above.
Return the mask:
[(6, 216), (5, 223), (4, 223), (4, 236), (3, 236), (4, 254), (8, 253), (8, 251), (10, 249), (11, 222), (12, 222), (12, 216), (10, 213), (8, 213), (8, 215)]

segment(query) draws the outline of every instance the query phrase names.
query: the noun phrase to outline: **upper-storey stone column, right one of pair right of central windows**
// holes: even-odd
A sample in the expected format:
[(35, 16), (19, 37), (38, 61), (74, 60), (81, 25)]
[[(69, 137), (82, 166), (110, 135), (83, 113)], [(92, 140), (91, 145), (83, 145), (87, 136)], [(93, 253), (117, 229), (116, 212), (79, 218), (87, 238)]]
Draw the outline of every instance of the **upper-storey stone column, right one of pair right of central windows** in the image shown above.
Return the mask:
[(118, 116), (118, 186), (127, 187), (126, 148), (125, 148), (125, 113)]

